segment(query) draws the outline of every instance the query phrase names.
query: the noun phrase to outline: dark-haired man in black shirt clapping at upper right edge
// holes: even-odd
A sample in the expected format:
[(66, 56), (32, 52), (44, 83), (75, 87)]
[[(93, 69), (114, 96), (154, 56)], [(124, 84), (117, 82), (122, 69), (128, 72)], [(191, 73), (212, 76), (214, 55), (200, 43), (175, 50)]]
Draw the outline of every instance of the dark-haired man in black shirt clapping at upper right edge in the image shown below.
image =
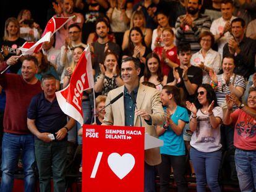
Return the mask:
[(223, 48), (223, 57), (229, 54), (234, 56), (235, 69), (234, 73), (242, 75), (246, 80), (255, 72), (255, 40), (247, 38), (244, 34), (245, 21), (236, 18), (231, 22), (231, 38)]

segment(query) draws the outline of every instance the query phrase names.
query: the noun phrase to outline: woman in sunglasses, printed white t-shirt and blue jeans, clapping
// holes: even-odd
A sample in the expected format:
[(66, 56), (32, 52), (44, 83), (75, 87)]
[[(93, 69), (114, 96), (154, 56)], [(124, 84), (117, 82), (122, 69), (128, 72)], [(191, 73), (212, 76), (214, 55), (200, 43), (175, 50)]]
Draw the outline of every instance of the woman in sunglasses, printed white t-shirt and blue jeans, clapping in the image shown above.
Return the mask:
[(216, 94), (209, 84), (197, 89), (197, 99), (186, 101), (191, 112), (189, 128), (193, 132), (190, 141), (190, 157), (195, 169), (197, 191), (221, 191), (218, 172), (221, 163), (220, 125), (223, 111), (217, 104)]

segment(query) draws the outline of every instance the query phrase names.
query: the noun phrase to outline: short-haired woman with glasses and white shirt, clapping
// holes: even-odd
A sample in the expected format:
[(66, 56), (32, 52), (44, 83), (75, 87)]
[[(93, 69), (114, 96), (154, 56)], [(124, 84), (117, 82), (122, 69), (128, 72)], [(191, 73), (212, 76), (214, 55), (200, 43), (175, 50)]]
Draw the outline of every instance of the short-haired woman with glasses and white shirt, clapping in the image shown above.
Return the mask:
[(203, 70), (203, 83), (210, 83), (210, 70), (218, 73), (221, 69), (221, 55), (211, 49), (214, 41), (214, 36), (210, 31), (203, 31), (199, 38), (201, 49), (195, 52), (190, 60), (192, 65)]

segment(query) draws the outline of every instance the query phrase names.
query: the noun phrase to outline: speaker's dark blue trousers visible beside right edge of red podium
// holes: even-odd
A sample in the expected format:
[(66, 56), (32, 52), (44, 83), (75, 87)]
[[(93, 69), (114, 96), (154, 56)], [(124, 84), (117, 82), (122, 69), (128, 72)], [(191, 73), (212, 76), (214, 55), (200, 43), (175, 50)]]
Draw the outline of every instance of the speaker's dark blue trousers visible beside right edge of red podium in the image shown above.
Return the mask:
[(144, 162), (144, 192), (155, 192), (155, 166)]

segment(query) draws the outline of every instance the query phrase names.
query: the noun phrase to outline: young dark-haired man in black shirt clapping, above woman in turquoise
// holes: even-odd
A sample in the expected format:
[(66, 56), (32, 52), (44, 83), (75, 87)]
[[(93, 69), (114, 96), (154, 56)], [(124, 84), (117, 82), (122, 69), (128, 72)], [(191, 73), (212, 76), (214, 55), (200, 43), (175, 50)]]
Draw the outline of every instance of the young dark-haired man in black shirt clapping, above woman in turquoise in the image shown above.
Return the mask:
[(173, 73), (169, 73), (167, 83), (181, 88), (182, 102), (194, 102), (195, 91), (198, 85), (202, 84), (202, 69), (190, 64), (192, 52), (189, 44), (180, 44), (177, 47), (177, 54), (181, 65), (173, 69)]

